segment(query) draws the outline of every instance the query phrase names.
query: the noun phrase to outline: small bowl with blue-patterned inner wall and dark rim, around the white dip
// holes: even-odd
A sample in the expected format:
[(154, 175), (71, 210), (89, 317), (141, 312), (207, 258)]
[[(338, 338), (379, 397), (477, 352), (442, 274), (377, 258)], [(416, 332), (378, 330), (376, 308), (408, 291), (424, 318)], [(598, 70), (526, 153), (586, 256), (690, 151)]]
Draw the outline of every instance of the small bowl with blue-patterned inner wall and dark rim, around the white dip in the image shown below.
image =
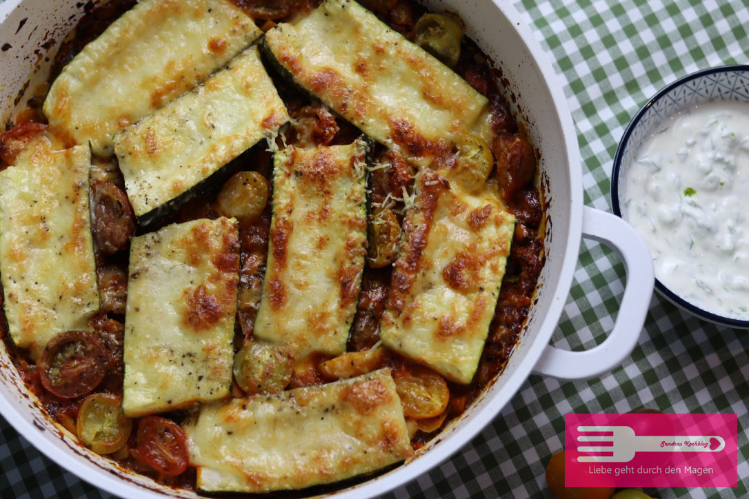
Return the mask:
[[(640, 111), (637, 111), (625, 129), (613, 159), (611, 204), (616, 215), (626, 219), (622, 213), (625, 195), (622, 187), (623, 178), (646, 139), (662, 126), (666, 117), (694, 105), (715, 101), (749, 103), (749, 65), (709, 67), (682, 76), (676, 82), (661, 88), (645, 102)], [(655, 280), (655, 289), (665, 299), (689, 313), (694, 313), (700, 319), (731, 328), (749, 329), (749, 320), (721, 316), (704, 310), (699, 304), (683, 299), (658, 279)]]

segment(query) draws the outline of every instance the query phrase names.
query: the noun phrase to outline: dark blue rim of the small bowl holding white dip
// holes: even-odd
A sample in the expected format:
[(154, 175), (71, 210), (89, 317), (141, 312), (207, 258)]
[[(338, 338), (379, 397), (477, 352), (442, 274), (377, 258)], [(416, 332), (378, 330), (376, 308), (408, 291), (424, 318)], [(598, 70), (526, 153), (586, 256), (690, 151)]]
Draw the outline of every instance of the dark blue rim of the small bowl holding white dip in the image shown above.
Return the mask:
[[(656, 92), (655, 95), (650, 98), (650, 100), (645, 102), (643, 107), (640, 108), (640, 111), (637, 111), (637, 114), (635, 114), (632, 120), (629, 122), (629, 125), (624, 131), (624, 135), (622, 135), (622, 140), (619, 141), (619, 146), (616, 147), (616, 155), (614, 156), (613, 168), (611, 169), (611, 206), (616, 216), (618, 216), (619, 218), (624, 218), (622, 216), (621, 205), (619, 204), (619, 180), (622, 172), (628, 166), (625, 164), (625, 153), (628, 152), (628, 149), (631, 149), (631, 147), (628, 147), (632, 145), (629, 142), (630, 140), (634, 139), (634, 135), (636, 135), (636, 132), (638, 131), (637, 129), (641, 125), (643, 125), (643, 118), (649, 117), (649, 111), (651, 111), (651, 108), (653, 108), (653, 106), (661, 99), (669, 97), (674, 90), (696, 79), (700, 79), (705, 76), (712, 76), (718, 73), (745, 73), (746, 75), (749, 75), (749, 65), (733, 64), (730, 66), (709, 67), (705, 70), (699, 70), (686, 76), (682, 76), (682, 78), (677, 79), (675, 82), (666, 85), (664, 88), (661, 88), (661, 90)], [(747, 90), (749, 91), (749, 88)], [(729, 91), (727, 94), (721, 94), (717, 99), (702, 96), (698, 98), (697, 101), (711, 102), (713, 100), (730, 100), (727, 98), (729, 96), (734, 97), (733, 100), (744, 100), (736, 99), (736, 97), (733, 95), (733, 92)], [(747, 100), (747, 102), (749, 102), (749, 97), (746, 97), (745, 99)], [(686, 107), (686, 105), (684, 105), (683, 107)], [(650, 126), (655, 126), (655, 120), (653, 120), (653, 123), (651, 123)], [(694, 313), (694, 315), (700, 317), (701, 319), (706, 319), (710, 322), (727, 325), (733, 328), (749, 328), (749, 320), (732, 319), (730, 317), (720, 316), (718, 314), (703, 310), (700, 307), (697, 307), (696, 305), (686, 301), (685, 299), (682, 299), (682, 297), (676, 295), (676, 293), (673, 293), (673, 291), (665, 287), (664, 284), (661, 283), (661, 281), (658, 281), (658, 278), (655, 279), (655, 289), (658, 290), (659, 293), (665, 296), (665, 298), (671, 301), (673, 304), (682, 307), (688, 312)]]

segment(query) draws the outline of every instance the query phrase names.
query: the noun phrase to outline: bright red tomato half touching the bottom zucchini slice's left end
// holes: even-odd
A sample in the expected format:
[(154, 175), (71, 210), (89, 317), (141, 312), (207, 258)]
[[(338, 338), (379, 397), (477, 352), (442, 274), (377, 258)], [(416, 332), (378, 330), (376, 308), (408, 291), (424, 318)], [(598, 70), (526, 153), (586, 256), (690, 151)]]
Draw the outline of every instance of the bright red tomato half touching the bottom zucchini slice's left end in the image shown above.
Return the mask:
[(187, 435), (172, 420), (146, 416), (140, 420), (136, 447), (132, 455), (166, 477), (176, 477), (187, 470)]

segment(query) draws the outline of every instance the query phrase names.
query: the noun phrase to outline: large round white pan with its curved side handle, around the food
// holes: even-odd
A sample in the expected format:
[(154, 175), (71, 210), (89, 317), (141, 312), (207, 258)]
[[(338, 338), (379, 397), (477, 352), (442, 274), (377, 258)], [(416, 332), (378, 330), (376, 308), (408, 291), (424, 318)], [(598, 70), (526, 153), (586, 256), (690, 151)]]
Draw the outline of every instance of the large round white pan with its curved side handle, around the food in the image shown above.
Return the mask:
[[(583, 206), (580, 152), (562, 85), (518, 12), (508, 2), (498, 0), (424, 3), (430, 10), (449, 10), (461, 16), (467, 24), (467, 35), (497, 62), (510, 83), (509, 102), (541, 153), (540, 179), (548, 204), (546, 263), (536, 300), (504, 373), (411, 462), (336, 492), (336, 498), (381, 495), (443, 462), (500, 412), (533, 370), (562, 379), (598, 376), (612, 370), (637, 343), (652, 295), (652, 264), (639, 236), (621, 218)], [(82, 9), (82, 2), (67, 0), (6, 0), (0, 4), (0, 40), (11, 45), (2, 52), (3, 121), (13, 115), (16, 105), (25, 102), (14, 104), (13, 100), (29, 76), (45, 69), (45, 54), (41, 52), (39, 58), (34, 51), (38, 52), (46, 41), (59, 42), (80, 19)], [(56, 46), (52, 43), (50, 55), (55, 54)], [(619, 252), (627, 284), (616, 325), (604, 343), (586, 352), (568, 352), (548, 343), (569, 293), (581, 236), (604, 242)], [(64, 435), (37, 408), (1, 347), (0, 412), (41, 452), (102, 489), (127, 498), (195, 497), (192, 492), (175, 491), (123, 470)]]

